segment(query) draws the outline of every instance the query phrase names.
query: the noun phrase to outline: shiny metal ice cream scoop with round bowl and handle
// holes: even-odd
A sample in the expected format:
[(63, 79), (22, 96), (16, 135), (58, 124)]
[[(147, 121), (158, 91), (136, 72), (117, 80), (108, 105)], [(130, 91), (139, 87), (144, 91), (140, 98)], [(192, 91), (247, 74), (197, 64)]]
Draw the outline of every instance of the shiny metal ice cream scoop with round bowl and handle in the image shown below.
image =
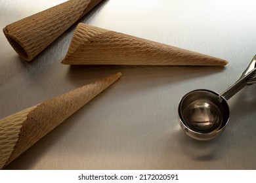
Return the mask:
[(183, 131), (198, 140), (210, 140), (221, 134), (229, 119), (227, 100), (244, 86), (256, 83), (256, 55), (242, 76), (220, 95), (211, 90), (194, 90), (179, 102), (179, 123)]

